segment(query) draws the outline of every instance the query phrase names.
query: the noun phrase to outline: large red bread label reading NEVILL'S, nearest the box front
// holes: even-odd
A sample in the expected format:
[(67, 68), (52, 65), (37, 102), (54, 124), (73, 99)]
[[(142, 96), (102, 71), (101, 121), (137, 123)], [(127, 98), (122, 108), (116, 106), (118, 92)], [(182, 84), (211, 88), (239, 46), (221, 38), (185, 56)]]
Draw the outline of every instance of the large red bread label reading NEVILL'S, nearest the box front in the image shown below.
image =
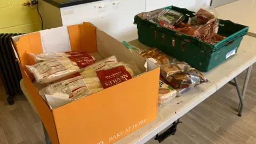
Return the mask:
[(131, 74), (124, 66), (119, 66), (107, 70), (96, 71), (104, 89), (128, 81), (132, 78)]

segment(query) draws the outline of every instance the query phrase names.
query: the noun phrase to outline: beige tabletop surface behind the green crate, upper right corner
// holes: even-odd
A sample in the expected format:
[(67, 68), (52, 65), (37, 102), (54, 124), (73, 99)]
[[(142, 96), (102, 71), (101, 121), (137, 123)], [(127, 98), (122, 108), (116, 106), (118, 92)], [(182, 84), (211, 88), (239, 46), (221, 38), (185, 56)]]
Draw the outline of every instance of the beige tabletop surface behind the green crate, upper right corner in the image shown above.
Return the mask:
[(217, 7), (219, 18), (249, 26), (248, 35), (256, 36), (256, 1), (239, 0)]

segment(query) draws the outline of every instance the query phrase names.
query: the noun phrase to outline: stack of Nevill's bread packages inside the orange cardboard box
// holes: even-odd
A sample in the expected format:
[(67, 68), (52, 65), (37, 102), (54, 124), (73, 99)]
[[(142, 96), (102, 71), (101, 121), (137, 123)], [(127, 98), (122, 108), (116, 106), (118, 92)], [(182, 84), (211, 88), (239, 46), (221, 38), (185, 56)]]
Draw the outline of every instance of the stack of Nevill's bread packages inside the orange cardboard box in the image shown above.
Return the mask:
[(102, 59), (98, 53), (29, 53), (35, 65), (26, 66), (50, 105), (52, 99), (73, 101), (91, 93), (128, 81), (140, 73), (135, 62), (118, 62), (115, 55)]

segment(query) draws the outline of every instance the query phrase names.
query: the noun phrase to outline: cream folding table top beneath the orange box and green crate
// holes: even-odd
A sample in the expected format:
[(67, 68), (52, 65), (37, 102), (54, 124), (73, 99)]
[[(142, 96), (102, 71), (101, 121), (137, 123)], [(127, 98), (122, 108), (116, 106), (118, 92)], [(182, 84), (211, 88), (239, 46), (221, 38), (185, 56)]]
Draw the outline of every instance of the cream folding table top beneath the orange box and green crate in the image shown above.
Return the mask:
[(172, 101), (162, 105), (158, 108), (157, 119), (142, 126), (131, 134), (126, 135), (124, 138), (116, 141), (115, 144), (145, 143), (155, 137), (157, 133), (171, 125), (178, 118), (186, 114), (206, 98), (210, 97), (210, 95), (220, 89), (220, 87), (256, 62), (255, 52), (256, 38), (244, 36), (243, 41), (238, 48), (238, 52), (233, 58), (223, 62), (220, 66), (212, 69), (210, 72), (204, 73), (211, 83), (201, 84), (181, 97), (174, 98)]

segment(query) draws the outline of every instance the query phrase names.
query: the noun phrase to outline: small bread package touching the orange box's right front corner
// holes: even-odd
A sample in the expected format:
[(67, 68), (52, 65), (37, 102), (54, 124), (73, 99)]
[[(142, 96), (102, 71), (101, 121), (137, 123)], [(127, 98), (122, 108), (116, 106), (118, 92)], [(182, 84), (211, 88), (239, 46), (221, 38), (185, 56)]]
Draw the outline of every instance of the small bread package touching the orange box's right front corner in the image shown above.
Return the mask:
[(175, 97), (179, 97), (180, 93), (174, 90), (171, 86), (167, 85), (165, 80), (160, 77), (159, 91), (158, 91), (158, 104), (161, 105), (165, 102), (172, 100)]

